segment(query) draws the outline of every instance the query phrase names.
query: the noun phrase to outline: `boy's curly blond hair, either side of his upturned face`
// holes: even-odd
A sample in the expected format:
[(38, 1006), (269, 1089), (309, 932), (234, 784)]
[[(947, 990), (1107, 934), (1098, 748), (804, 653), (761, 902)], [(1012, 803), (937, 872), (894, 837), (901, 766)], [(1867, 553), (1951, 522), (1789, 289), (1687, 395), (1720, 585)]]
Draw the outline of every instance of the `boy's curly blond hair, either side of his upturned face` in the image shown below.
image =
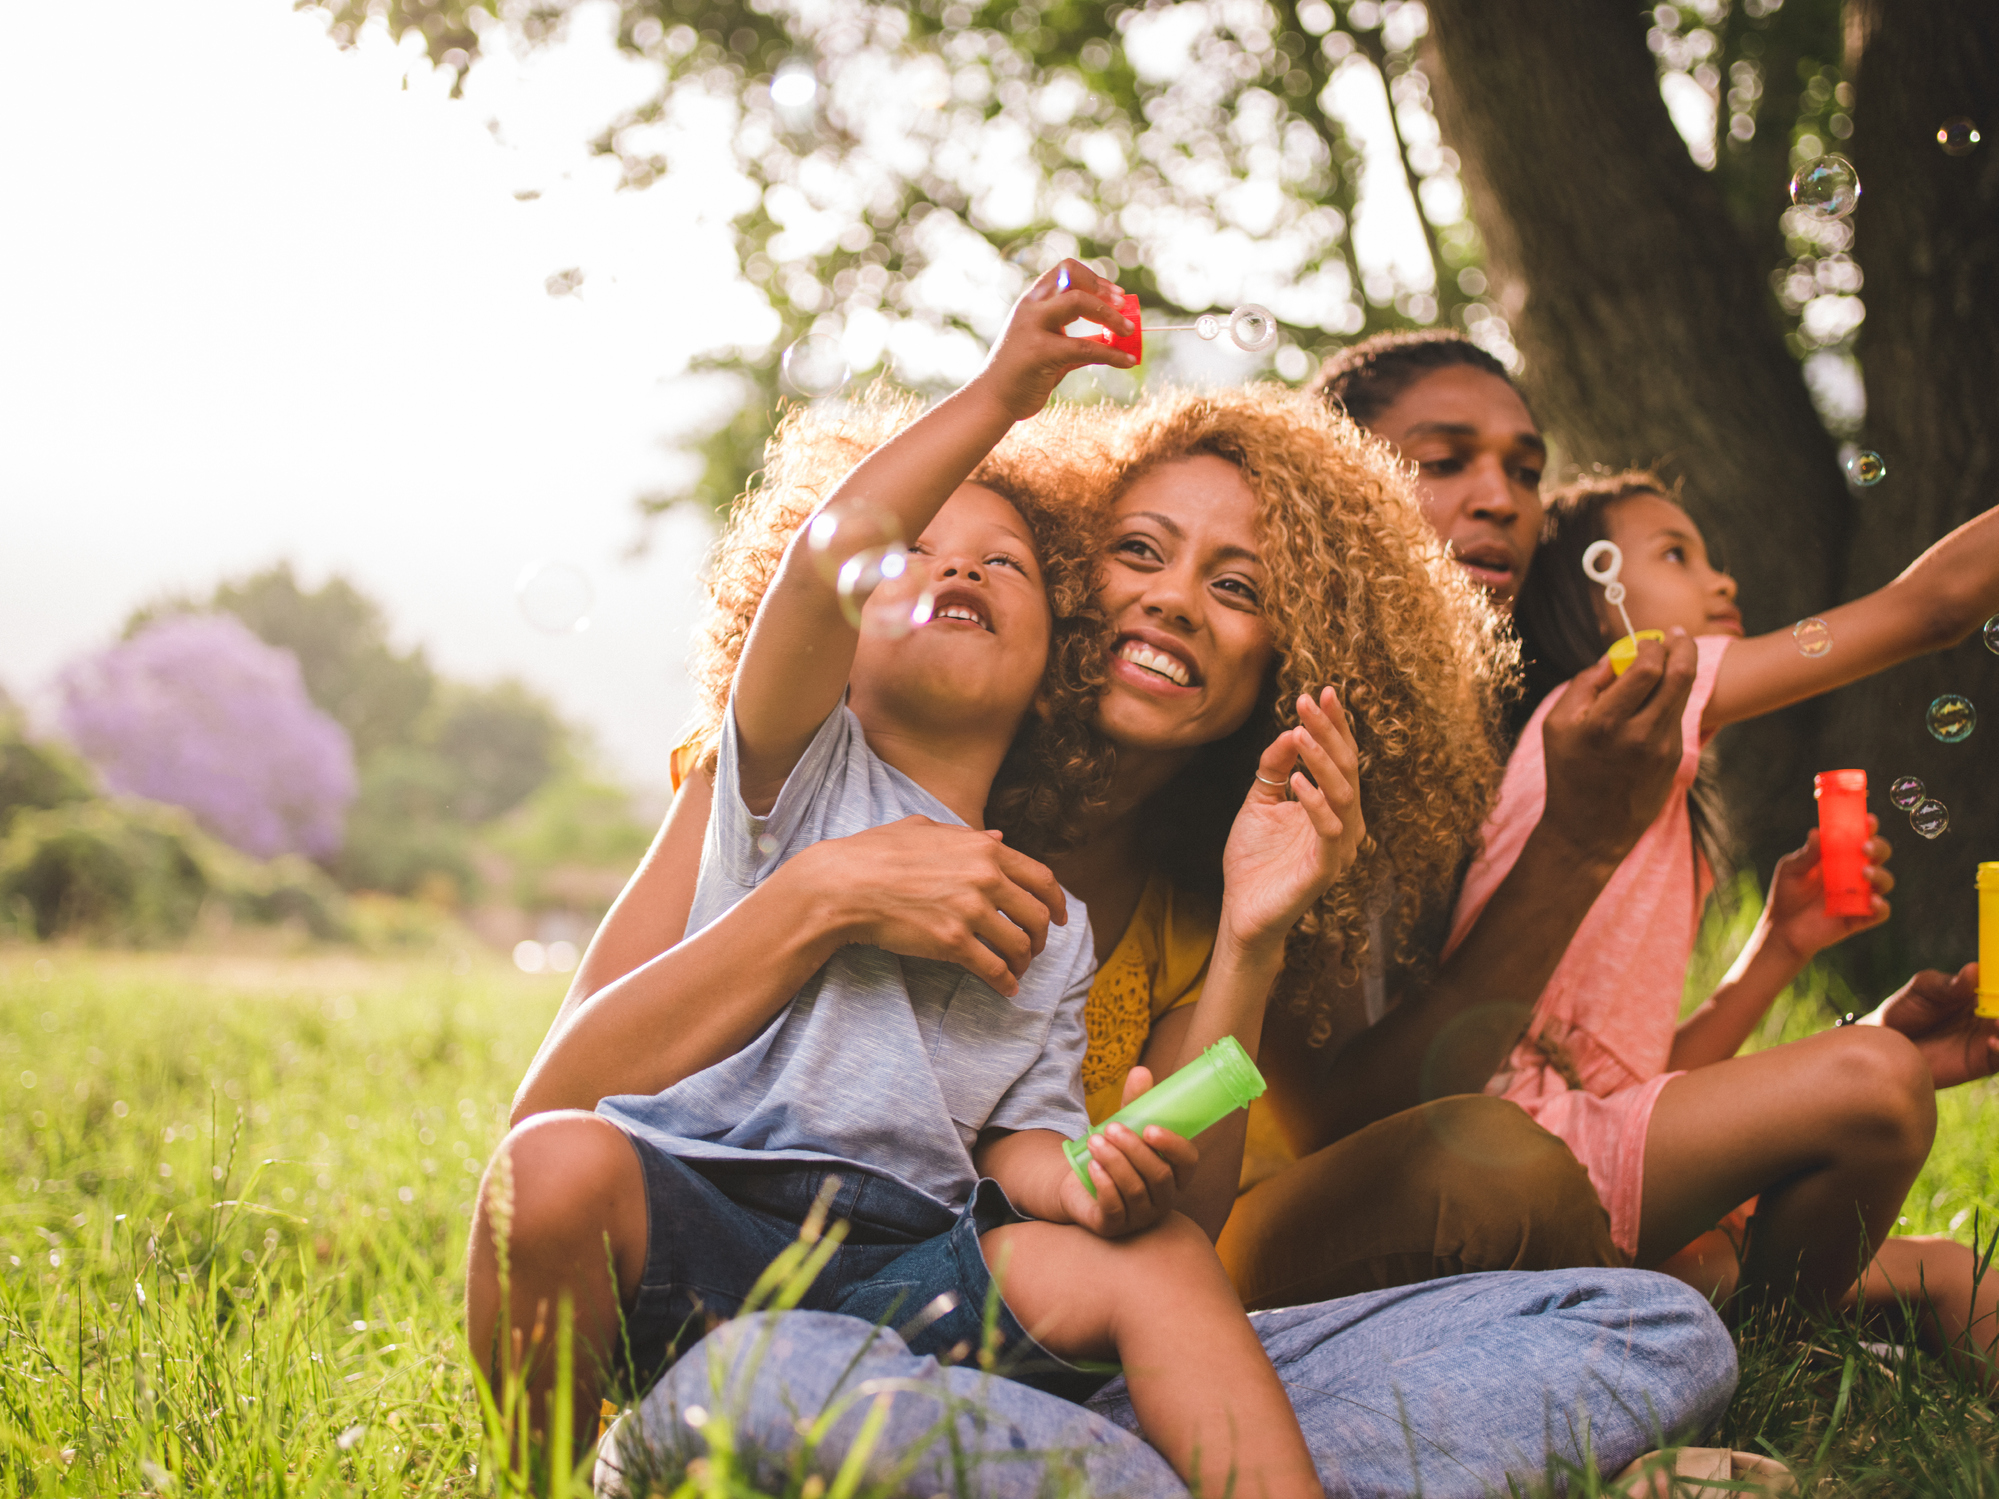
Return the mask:
[[(708, 570), (708, 612), (696, 632), (694, 742), (714, 769), (722, 714), (750, 624), (786, 548), (870, 452), (922, 414), (914, 396), (878, 388), (836, 410), (792, 410), (764, 450), (764, 470), (736, 500)], [(978, 466), (972, 484), (1003, 496), (1033, 538), (1049, 604), (1047, 672), (1035, 708), (1000, 763), (986, 821), (1037, 857), (1073, 847), (1109, 789), (1113, 751), (1095, 730), (1107, 680), (1107, 626), (1097, 604), (1101, 512), (1077, 418), (1023, 422)], [(916, 538), (910, 538), (916, 540)]]

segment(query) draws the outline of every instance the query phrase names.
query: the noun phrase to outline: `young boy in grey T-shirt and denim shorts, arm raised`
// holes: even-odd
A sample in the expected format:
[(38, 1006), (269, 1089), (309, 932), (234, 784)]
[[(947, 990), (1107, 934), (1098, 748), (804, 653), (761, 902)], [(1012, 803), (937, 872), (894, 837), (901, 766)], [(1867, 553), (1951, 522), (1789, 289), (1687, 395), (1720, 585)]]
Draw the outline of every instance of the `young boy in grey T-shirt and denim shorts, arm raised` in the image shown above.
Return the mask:
[[(1067, 370), (1131, 364), (1063, 334), (1079, 318), (1125, 332), (1113, 296), (1075, 262), (1043, 276), (988, 368), (834, 492), (828, 508), (866, 502), (918, 538), (910, 576), (878, 590), (860, 632), (794, 538), (738, 668), (690, 931), (822, 837), (910, 813), (982, 825), (1035, 712), (1051, 612), (1033, 528), (966, 476)], [(906, 620), (918, 588), (932, 594), (928, 626), (868, 628)], [(1295, 753), (1313, 765), (1315, 748)], [(1299, 777), (1297, 793), (1321, 835), (1339, 827), (1315, 785)], [(1299, 871), (1301, 883), (1325, 877)], [(998, 1267), (1005, 1373), (1079, 1399), (1099, 1377), (1075, 1361), (1119, 1361), (1147, 1439), (1189, 1483), (1321, 1493), (1205, 1235), (1149, 1193), (1121, 1191), (1125, 1163), (1113, 1161), (1117, 1177), (1103, 1165), (1115, 1149), (1095, 1147), (1095, 1195), (1061, 1153), (1087, 1131), (1093, 957), (1077, 915), (1071, 903), (1013, 995), (950, 963), (844, 947), (726, 1061), (658, 1095), (600, 1103), (644, 1175), (644, 1271), (626, 1297), (640, 1369), (670, 1361), (704, 1313), (732, 1313), (838, 1177), (830, 1215), (850, 1231), (806, 1307), (892, 1327), (950, 1307), (910, 1331), (916, 1351), (950, 1355), (980, 1345)]]

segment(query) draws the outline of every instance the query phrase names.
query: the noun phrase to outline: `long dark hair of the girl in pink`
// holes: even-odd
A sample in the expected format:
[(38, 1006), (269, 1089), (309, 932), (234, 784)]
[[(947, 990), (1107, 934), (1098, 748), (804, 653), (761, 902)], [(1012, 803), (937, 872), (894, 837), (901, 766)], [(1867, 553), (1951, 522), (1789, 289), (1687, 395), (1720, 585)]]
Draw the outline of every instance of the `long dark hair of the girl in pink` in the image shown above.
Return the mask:
[[(1541, 542), (1513, 600), (1525, 692), (1513, 704), (1509, 738), (1519, 738), (1547, 694), (1603, 660), (1609, 640), (1597, 616), (1601, 586), (1583, 572), (1583, 552), (1609, 540), (1611, 506), (1637, 496), (1679, 504), (1677, 490), (1643, 468), (1593, 474), (1547, 496)], [(1723, 879), (1733, 865), (1733, 843), (1727, 805), (1707, 755), (1701, 755), (1701, 769), (1687, 791), (1687, 815), (1693, 819), (1695, 849), (1715, 879)]]

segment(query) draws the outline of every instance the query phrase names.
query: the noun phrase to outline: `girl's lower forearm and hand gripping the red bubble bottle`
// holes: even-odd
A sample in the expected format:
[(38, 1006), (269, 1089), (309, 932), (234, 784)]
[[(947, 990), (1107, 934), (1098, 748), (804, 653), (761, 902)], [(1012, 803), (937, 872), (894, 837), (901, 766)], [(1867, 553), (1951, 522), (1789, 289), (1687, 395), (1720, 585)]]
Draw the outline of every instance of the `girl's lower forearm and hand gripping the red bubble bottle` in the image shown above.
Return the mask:
[(1805, 847), (1777, 859), (1777, 873), (1769, 881), (1769, 899), (1755, 931), (1749, 933), (1727, 977), (1699, 1009), (1679, 1021), (1673, 1053), (1665, 1063), (1669, 1069), (1691, 1071), (1733, 1057), (1783, 993), (1783, 985), (1795, 979), (1815, 953), (1887, 921), (1887, 893), (1895, 889), (1895, 875), (1883, 867), (1891, 849), (1879, 827), (1875, 817), (1867, 819), (1867, 881), (1875, 889), (1873, 909), (1867, 915), (1825, 913), (1817, 827), (1805, 835)]

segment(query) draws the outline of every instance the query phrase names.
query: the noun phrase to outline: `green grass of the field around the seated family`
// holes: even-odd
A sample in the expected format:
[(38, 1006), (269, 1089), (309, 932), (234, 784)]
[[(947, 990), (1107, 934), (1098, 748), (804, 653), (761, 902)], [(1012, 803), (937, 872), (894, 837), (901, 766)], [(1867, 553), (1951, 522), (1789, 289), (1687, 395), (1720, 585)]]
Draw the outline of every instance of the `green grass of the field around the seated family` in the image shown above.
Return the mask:
[[(0, 1491), (492, 1491), (464, 1235), (560, 985), (0, 947)], [(1907, 1231), (1999, 1223), (1993, 1119), (1987, 1087), (1945, 1097)], [(1727, 1437), (1817, 1493), (1999, 1493), (1989, 1399), (1839, 1327), (1745, 1333)]]

